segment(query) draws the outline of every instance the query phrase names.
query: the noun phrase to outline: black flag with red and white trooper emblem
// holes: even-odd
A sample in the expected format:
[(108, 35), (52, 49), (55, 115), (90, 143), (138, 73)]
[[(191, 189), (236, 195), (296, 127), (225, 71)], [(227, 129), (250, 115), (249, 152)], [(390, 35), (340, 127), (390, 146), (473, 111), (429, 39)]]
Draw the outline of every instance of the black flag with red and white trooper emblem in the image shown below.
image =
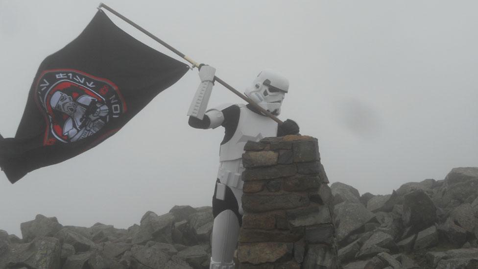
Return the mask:
[(75, 40), (41, 63), (15, 138), (0, 136), (0, 167), (15, 183), (95, 147), (187, 71), (98, 11)]

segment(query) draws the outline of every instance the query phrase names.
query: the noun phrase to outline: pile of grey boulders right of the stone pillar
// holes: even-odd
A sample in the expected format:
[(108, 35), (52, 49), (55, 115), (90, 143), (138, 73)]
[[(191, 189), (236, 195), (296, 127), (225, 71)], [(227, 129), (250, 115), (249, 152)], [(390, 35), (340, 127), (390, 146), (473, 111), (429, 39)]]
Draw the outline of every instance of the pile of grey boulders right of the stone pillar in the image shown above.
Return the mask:
[(478, 168), (389, 195), (360, 196), (340, 182), (331, 189), (344, 269), (478, 269)]

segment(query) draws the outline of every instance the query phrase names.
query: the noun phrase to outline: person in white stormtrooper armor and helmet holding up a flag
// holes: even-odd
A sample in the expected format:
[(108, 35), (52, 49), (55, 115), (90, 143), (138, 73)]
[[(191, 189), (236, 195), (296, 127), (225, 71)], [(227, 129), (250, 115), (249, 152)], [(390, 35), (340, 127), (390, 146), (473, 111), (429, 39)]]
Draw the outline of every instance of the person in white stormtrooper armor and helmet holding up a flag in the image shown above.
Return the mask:
[[(239, 227), (242, 224), (242, 153), (247, 141), (259, 141), (264, 137), (283, 136), (299, 132), (298, 125), (287, 120), (277, 122), (250, 104), (223, 104), (206, 110), (215, 69), (203, 65), (199, 70), (201, 84), (188, 112), (189, 125), (209, 129), (223, 126), (224, 139), (219, 151), (219, 170), (213, 196), (214, 226), (212, 234), (212, 257), (210, 269), (234, 269)], [(272, 71), (263, 71), (245, 91), (251, 98), (273, 115), (281, 112), (282, 101), (288, 92), (288, 80)]]

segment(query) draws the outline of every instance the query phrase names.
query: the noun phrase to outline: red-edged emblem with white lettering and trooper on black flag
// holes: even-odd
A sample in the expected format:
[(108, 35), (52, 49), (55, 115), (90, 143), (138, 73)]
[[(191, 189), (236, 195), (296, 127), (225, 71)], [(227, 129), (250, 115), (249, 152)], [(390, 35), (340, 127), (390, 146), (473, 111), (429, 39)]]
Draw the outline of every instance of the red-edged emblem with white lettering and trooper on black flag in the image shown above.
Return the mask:
[(44, 72), (36, 101), (46, 115), (44, 145), (85, 139), (126, 111), (113, 82), (76, 70)]

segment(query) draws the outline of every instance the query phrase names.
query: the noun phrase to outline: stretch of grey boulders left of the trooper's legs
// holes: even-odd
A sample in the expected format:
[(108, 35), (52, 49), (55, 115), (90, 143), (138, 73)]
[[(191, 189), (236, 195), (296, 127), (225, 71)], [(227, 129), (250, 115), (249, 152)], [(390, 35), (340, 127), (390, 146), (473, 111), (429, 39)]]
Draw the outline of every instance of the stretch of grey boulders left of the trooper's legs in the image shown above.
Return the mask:
[(37, 215), (21, 224), (23, 239), (0, 230), (0, 269), (206, 269), (212, 228), (211, 207), (148, 211), (128, 229)]

